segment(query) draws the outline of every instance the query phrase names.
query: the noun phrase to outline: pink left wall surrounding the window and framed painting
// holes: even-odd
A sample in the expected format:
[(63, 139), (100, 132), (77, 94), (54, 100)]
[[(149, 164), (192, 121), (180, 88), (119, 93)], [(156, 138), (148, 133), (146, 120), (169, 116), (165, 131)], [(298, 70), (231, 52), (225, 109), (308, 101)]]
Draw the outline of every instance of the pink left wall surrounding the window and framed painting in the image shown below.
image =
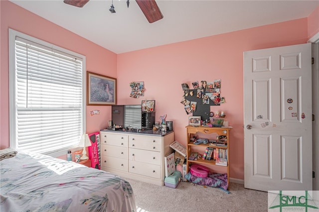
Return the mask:
[[(9, 146), (8, 28), (85, 55), (87, 70), (114, 78), (117, 78), (117, 55), (7, 0), (0, 0), (0, 9), (0, 149), (3, 149)], [(91, 116), (93, 109), (100, 110), (100, 114)], [(86, 131), (91, 133), (106, 127), (111, 107), (86, 106), (86, 113)]]

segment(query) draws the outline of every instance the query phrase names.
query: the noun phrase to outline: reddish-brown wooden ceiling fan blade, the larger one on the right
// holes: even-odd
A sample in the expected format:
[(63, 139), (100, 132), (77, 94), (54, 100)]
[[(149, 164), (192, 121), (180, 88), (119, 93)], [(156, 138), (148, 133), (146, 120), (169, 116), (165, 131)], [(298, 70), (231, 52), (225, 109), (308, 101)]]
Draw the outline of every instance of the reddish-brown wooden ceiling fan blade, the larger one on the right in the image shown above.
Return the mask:
[(136, 2), (150, 23), (163, 18), (160, 8), (155, 0), (136, 0)]

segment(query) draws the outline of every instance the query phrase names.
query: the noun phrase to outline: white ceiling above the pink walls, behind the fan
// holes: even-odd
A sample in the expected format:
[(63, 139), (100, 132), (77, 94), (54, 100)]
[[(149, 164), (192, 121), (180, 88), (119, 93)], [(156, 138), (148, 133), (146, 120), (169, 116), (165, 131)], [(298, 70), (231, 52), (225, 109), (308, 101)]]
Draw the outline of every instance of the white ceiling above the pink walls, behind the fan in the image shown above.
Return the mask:
[(308, 17), (319, 0), (157, 0), (163, 18), (149, 23), (135, 0), (10, 0), (117, 54)]

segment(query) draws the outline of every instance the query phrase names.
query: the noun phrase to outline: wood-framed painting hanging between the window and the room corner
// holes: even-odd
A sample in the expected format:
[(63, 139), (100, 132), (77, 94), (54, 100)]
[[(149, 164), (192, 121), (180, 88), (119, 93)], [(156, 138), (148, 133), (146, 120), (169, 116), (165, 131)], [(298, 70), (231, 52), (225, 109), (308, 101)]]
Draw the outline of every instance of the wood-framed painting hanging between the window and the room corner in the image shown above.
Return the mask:
[(87, 105), (116, 105), (116, 79), (87, 72)]

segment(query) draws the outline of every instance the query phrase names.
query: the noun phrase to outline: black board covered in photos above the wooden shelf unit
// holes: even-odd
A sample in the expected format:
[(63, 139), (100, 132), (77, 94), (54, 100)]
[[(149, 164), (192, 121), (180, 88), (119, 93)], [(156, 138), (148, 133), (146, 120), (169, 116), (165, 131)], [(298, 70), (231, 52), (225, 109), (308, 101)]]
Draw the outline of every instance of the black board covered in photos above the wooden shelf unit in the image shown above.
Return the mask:
[(220, 97), (221, 80), (192, 82), (193, 89), (187, 83), (181, 84), (184, 96), (181, 104), (187, 114), (193, 113), (202, 106), (219, 106), (225, 103), (225, 98)]

